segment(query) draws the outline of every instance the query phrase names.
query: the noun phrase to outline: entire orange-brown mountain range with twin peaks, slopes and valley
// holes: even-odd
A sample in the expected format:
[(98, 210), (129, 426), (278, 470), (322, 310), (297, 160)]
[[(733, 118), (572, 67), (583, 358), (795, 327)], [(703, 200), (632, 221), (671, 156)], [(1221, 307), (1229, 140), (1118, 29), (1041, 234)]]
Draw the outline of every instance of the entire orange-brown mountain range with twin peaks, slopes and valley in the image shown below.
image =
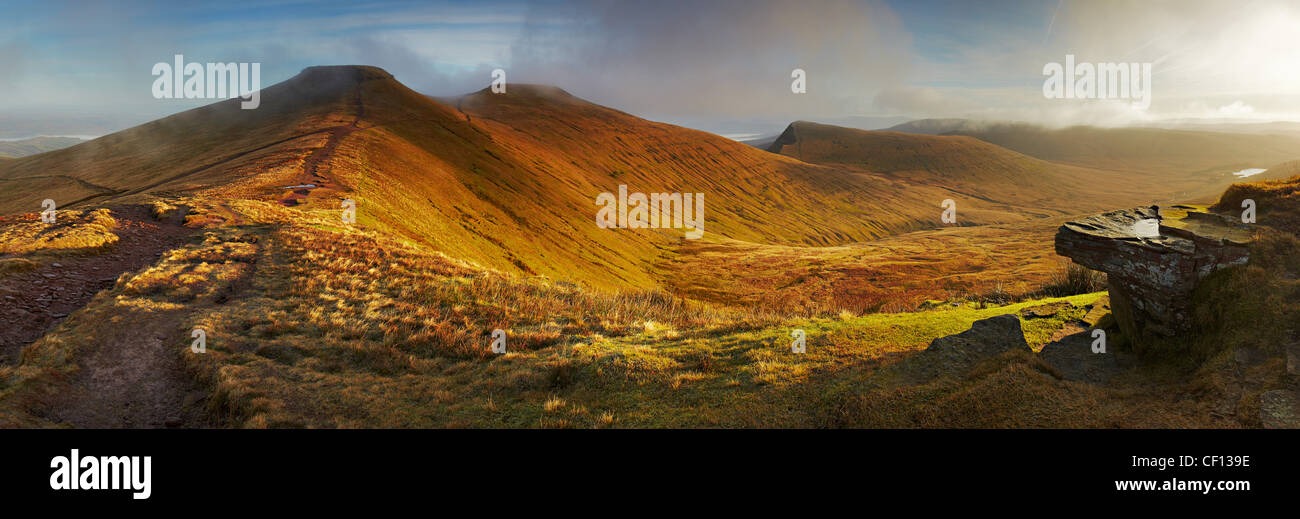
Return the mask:
[[(0, 164), (0, 212), (39, 211), (46, 198), (61, 208), (202, 198), (334, 212), (352, 199), (363, 226), (500, 272), (835, 312), (1032, 293), (1060, 267), (1045, 248), (1017, 255), (1010, 245), (1046, 243), (1040, 219), (1182, 190), (1164, 176), (1063, 165), (968, 137), (796, 122), (781, 142), (784, 155), (768, 153), (555, 87), (430, 99), (381, 69), (309, 68), (266, 88), (256, 111), (216, 103)], [(283, 189), (302, 185), (315, 187)], [(703, 193), (703, 238), (598, 228), (595, 198), (620, 185)], [(939, 230), (944, 199), (958, 202), (961, 226), (1009, 226)], [(900, 238), (835, 248), (887, 237)], [(915, 243), (944, 243), (962, 260), (926, 258)], [(854, 273), (867, 259), (888, 278), (862, 285)], [(1018, 272), (1017, 287), (978, 274), (1004, 268)], [(755, 297), (776, 278), (802, 281)]]

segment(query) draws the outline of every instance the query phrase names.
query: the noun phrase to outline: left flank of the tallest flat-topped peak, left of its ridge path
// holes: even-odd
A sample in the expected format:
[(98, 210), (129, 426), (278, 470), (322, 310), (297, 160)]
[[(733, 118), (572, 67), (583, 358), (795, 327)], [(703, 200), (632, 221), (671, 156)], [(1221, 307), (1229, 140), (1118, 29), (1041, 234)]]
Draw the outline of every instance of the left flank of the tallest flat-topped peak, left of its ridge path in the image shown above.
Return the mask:
[(350, 122), (351, 86), (387, 77), (352, 68), (351, 77), (320, 68), (268, 87), (261, 105), (239, 100), (195, 108), (78, 146), (0, 163), (0, 213), (105, 202), (139, 193), (194, 190), (299, 161), (322, 131)]

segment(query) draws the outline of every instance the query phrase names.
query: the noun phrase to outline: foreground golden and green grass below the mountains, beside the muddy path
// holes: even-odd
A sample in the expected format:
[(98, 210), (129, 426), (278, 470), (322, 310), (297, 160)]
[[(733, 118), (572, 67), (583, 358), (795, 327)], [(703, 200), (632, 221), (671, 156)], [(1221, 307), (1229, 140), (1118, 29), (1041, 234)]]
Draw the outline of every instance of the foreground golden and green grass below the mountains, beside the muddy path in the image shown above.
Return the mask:
[[(875, 377), (975, 320), (1060, 307), (1020, 317), (1041, 349), (1100, 293), (792, 317), (497, 272), (324, 209), (224, 208), (240, 224), (126, 276), (0, 368), (0, 420), (43, 424), (31, 410), (75, 373), (75, 338), (152, 315), (207, 330), (205, 354), (177, 355), (228, 427), (1232, 427), (1161, 373), (1097, 388), (1032, 355), (922, 386)], [(494, 329), (504, 355), (490, 354)]]

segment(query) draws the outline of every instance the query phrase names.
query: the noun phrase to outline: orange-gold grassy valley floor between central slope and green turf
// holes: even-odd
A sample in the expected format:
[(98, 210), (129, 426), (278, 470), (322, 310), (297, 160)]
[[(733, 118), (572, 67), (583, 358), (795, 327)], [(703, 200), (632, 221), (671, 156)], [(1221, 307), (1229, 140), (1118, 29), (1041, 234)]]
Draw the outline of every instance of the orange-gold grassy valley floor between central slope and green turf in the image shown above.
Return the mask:
[(1052, 239), (1062, 221), (922, 230), (845, 247), (688, 243), (662, 264), (662, 282), (686, 298), (786, 315), (901, 312), (993, 294), (1006, 303), (1057, 281), (1063, 267)]

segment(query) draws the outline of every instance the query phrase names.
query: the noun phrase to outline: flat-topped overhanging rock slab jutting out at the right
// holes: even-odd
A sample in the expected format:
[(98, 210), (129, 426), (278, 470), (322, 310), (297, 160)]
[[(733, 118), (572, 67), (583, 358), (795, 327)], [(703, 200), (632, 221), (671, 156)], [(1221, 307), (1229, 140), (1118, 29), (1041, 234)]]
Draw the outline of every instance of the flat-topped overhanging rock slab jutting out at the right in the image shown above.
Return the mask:
[(1140, 346), (1187, 332), (1192, 290), (1212, 272), (1244, 264), (1252, 234), (1227, 216), (1152, 206), (1066, 222), (1056, 251), (1109, 276), (1115, 321)]

